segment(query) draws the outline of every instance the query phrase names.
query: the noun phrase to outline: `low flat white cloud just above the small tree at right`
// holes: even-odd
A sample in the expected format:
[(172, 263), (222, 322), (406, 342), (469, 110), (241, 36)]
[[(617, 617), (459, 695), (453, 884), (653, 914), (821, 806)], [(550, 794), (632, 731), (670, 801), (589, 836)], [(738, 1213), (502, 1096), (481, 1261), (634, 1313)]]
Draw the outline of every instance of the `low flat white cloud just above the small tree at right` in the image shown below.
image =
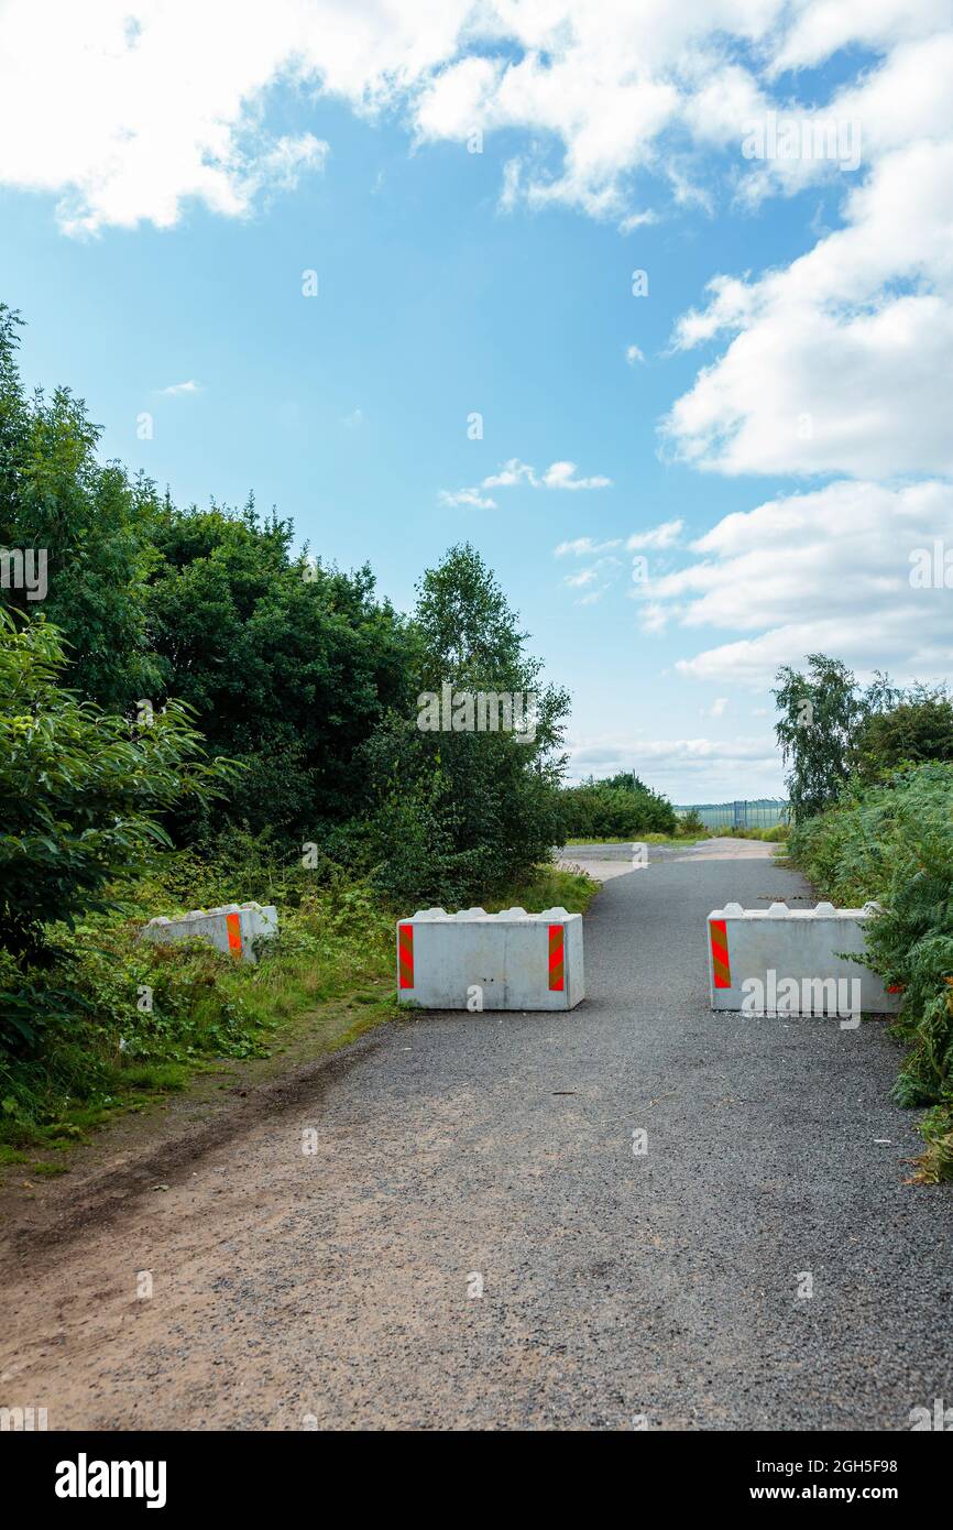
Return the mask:
[(696, 562), (633, 594), (658, 623), (742, 633), (679, 659), (705, 682), (763, 685), (780, 664), (834, 653), (861, 673), (941, 679), (953, 667), (948, 589), (915, 589), (912, 554), (953, 549), (953, 485), (838, 482), (725, 516)]

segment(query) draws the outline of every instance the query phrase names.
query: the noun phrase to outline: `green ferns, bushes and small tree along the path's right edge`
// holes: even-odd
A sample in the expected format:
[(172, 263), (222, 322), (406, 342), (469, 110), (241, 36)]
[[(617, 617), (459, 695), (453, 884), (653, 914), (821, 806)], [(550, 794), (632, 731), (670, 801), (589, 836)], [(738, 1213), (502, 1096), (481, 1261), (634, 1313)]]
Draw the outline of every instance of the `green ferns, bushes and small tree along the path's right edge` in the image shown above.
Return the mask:
[(779, 682), (791, 860), (821, 897), (883, 906), (867, 946), (870, 967), (903, 988), (893, 1092), (929, 1108), (916, 1178), (953, 1180), (953, 702), (883, 676), (863, 690), (825, 655)]

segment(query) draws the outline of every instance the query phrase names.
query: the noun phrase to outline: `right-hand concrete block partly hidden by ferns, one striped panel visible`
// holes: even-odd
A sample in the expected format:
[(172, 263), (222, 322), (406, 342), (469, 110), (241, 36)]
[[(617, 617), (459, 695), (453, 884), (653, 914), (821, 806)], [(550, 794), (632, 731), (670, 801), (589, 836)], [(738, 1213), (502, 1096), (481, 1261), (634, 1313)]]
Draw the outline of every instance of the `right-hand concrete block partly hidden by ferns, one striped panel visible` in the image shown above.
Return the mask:
[[(708, 982), (713, 1010), (750, 1014), (895, 1014), (899, 991), (851, 959), (866, 949), (864, 921), (880, 912), (835, 909), (742, 909), (727, 903), (708, 915)], [(846, 953), (846, 955), (840, 955)]]

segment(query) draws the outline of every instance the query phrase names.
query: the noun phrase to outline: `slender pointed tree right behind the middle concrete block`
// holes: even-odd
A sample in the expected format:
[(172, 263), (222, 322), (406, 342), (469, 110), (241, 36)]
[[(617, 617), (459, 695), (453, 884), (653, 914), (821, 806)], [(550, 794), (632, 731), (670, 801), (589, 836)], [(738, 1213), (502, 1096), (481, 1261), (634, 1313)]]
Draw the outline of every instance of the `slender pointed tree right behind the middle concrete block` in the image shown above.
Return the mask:
[[(361, 750), (361, 854), (392, 898), (471, 903), (549, 860), (569, 696), (540, 685), (514, 612), (470, 546), (451, 548), (421, 580), (413, 632), (413, 715), (392, 711)], [(468, 698), (505, 693), (523, 698), (528, 725), (454, 728), (451, 708), (441, 719), (450, 727), (425, 728), (427, 698), (439, 702), (444, 687), (459, 698), (459, 721)]]

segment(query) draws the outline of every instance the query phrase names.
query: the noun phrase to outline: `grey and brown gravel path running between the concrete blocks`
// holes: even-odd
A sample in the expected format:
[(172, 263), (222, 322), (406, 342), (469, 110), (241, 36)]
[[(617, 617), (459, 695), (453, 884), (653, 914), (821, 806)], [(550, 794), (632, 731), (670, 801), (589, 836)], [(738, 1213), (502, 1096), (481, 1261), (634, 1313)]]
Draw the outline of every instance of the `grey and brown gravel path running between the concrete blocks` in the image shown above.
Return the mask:
[(20, 1247), (0, 1403), (54, 1429), (909, 1429), (953, 1401), (953, 1201), (901, 1183), (883, 1027), (707, 1008), (710, 909), (799, 894), (759, 860), (616, 877), (575, 1013), (395, 1022), (165, 1189)]

